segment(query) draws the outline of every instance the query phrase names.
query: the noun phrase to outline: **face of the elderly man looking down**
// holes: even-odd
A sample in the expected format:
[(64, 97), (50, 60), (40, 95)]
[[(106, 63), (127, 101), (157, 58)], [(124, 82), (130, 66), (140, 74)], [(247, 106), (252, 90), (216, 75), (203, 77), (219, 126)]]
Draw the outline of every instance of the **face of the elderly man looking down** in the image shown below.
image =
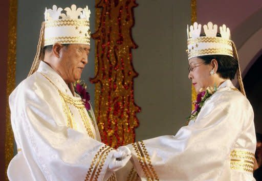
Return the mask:
[(69, 44), (61, 48), (58, 69), (65, 82), (75, 82), (81, 78), (89, 53), (88, 44)]

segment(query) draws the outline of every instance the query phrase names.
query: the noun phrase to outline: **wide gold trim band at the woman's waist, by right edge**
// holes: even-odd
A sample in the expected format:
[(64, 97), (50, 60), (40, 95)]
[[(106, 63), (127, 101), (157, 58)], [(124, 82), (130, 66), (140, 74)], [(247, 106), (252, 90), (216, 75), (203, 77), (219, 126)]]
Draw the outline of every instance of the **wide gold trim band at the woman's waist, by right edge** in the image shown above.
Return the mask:
[(230, 168), (253, 173), (255, 154), (250, 151), (233, 150), (230, 153)]

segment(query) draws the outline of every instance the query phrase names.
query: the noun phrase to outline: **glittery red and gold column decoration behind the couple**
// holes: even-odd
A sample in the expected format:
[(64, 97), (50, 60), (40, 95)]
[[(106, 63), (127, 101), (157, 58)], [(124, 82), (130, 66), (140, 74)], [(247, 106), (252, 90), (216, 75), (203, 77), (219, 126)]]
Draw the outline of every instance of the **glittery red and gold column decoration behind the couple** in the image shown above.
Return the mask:
[(134, 102), (132, 38), (135, 0), (96, 0), (95, 114), (102, 142), (114, 148), (134, 143), (136, 117)]

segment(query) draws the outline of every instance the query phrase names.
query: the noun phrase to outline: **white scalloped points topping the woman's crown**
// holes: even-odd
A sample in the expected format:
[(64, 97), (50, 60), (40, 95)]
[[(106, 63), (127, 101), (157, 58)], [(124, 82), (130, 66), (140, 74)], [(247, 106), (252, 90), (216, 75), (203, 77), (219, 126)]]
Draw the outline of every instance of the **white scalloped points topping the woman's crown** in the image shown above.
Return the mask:
[[(194, 22), (193, 25), (190, 26), (190, 31), (187, 27), (187, 38), (198, 38), (201, 34), (201, 25), (197, 22)], [(208, 22), (207, 25), (203, 26), (204, 32), (206, 34), (206, 37), (216, 37), (217, 33), (217, 25), (213, 25), (212, 22)], [(221, 37), (224, 39), (230, 39), (230, 30), (226, 27), (226, 25), (223, 25), (220, 27), (220, 34)]]

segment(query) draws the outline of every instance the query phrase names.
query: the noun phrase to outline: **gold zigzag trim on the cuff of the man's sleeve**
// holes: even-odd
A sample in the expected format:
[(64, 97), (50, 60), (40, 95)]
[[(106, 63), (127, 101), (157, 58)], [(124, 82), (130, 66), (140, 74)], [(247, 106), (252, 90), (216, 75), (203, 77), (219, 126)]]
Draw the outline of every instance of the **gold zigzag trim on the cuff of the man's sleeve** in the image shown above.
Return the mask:
[[(94, 178), (94, 175), (95, 175), (95, 178), (94, 178), (94, 181), (97, 181), (98, 180), (98, 176), (99, 176), (99, 174), (100, 174), (100, 172), (101, 172), (101, 169), (102, 169), (102, 167), (103, 167), (103, 165), (104, 165), (104, 162), (105, 162), (105, 160), (106, 160), (106, 157), (107, 157), (107, 155), (108, 155), (108, 153), (110, 152), (110, 151), (112, 151), (113, 150), (113, 148), (111, 148), (111, 147), (109, 147), (109, 146), (106, 146), (106, 145), (104, 145), (102, 148), (100, 148), (99, 149), (99, 151), (96, 153), (96, 155), (94, 156), (94, 159), (92, 160), (92, 163), (91, 163), (91, 165), (90, 165), (90, 168), (89, 168), (89, 171), (88, 171), (88, 173), (86, 174), (86, 177), (85, 177), (85, 181), (92, 181), (93, 180), (93, 178)], [(99, 157), (98, 157), (99, 156)], [(102, 159), (102, 161), (101, 161), (101, 159)], [(94, 168), (94, 165), (95, 165), (95, 163), (96, 163), (96, 166), (95, 166), (95, 168)], [(99, 164), (100, 164), (100, 166), (99, 166)], [(98, 166), (99, 166), (99, 168), (98, 168)], [(94, 168), (94, 170), (93, 170), (93, 172), (92, 172), (92, 169)], [(98, 168), (98, 169), (97, 169)], [(92, 174), (91, 174), (91, 172), (92, 172)], [(97, 172), (97, 173), (96, 173)], [(91, 178), (90, 178), (90, 175), (91, 175)], [(90, 178), (90, 179), (89, 179)]]

